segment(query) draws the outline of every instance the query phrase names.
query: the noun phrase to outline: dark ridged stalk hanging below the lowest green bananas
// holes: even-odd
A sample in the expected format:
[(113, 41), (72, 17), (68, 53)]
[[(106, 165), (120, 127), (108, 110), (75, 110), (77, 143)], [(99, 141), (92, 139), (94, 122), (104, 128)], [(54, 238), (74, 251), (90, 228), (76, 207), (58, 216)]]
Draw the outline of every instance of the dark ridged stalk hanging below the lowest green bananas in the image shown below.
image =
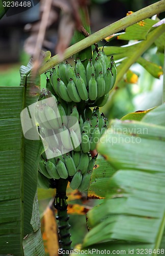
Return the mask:
[(66, 188), (68, 181), (64, 179), (57, 180), (56, 183), (56, 197), (54, 199), (54, 207), (58, 211), (56, 219), (59, 221), (59, 235), (61, 244), (61, 251), (63, 254), (67, 255), (72, 250), (70, 240), (71, 234), (69, 233), (69, 215), (67, 214), (67, 196)]

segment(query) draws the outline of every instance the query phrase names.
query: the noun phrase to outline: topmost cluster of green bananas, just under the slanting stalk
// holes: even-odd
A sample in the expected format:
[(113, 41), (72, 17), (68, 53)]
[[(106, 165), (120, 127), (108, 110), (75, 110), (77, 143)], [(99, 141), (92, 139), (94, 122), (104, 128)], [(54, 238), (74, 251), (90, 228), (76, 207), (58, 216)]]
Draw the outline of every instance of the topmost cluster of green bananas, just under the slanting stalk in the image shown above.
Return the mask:
[(79, 58), (75, 68), (68, 61), (61, 62), (57, 70), (53, 68), (50, 79), (47, 79), (47, 89), (52, 86), (50, 91), (66, 102), (84, 100), (93, 106), (103, 106), (114, 87), (116, 75), (113, 56), (109, 61), (104, 51), (97, 53), (94, 50), (86, 69)]

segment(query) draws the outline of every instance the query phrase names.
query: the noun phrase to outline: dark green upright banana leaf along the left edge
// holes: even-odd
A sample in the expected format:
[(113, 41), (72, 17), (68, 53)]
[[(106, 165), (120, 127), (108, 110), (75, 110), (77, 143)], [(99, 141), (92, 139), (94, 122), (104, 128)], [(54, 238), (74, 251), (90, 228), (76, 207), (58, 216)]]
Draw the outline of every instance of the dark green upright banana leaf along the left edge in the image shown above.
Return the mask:
[(41, 142), (24, 138), (20, 119), (40, 89), (26, 80), (20, 87), (0, 87), (0, 254), (21, 256), (45, 254), (35, 198)]

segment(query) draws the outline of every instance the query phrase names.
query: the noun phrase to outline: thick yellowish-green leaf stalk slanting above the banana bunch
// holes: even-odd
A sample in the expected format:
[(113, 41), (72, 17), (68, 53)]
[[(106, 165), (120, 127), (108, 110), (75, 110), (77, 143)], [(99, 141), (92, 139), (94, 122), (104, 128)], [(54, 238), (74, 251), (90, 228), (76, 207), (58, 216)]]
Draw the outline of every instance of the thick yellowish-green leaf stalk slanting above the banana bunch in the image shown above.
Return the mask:
[(109, 35), (117, 33), (137, 22), (140, 22), (143, 19), (149, 18), (163, 11), (165, 11), (165, 1), (161, 0), (157, 3), (147, 6), (137, 12), (134, 12), (118, 20), (117, 22), (95, 32), (94, 34), (88, 36), (87, 38), (82, 39), (76, 44), (70, 46), (65, 50), (63, 56), (57, 54), (51, 57), (44, 65), (40, 67), (40, 70), (39, 70), (40, 74), (44, 73), (45, 71), (52, 68), (53, 66), (56, 66), (58, 63), (69, 58), (73, 54), (76, 54), (79, 51), (82, 51), (88, 48), (89, 46), (95, 44), (95, 42), (100, 41)]

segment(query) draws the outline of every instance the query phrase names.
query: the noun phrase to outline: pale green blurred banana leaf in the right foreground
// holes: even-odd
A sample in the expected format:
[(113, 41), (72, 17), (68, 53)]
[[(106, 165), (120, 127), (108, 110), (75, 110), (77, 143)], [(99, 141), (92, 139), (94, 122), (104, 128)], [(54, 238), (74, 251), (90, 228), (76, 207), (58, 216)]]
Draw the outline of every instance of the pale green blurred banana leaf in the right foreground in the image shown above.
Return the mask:
[(162, 249), (164, 255), (164, 112), (165, 104), (140, 122), (114, 120), (102, 136), (98, 151), (117, 172), (109, 178), (104, 202), (87, 214), (90, 231), (83, 249), (124, 250), (125, 255), (130, 249), (134, 255), (138, 249), (147, 255)]

